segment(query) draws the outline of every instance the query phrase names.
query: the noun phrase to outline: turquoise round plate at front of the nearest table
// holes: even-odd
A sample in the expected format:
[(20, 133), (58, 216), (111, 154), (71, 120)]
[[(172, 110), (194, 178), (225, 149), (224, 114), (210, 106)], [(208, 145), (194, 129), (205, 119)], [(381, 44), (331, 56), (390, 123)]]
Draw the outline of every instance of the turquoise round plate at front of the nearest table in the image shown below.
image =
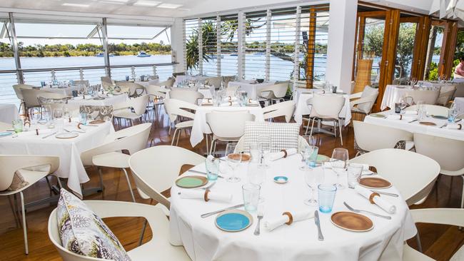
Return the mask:
[(246, 230), (253, 223), (253, 217), (243, 210), (228, 210), (216, 217), (216, 227), (227, 232)]

